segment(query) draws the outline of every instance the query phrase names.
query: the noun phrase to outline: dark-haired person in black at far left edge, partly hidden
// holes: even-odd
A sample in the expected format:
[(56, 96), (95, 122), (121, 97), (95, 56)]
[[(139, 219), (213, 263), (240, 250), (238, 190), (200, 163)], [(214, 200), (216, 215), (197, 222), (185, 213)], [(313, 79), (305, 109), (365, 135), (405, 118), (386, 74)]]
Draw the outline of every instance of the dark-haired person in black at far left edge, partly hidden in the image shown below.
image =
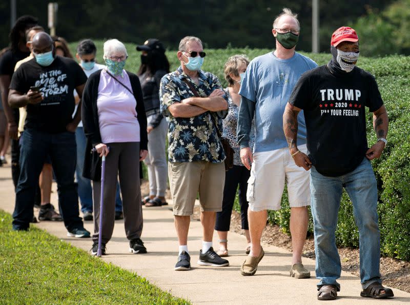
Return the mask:
[[(0, 91), (4, 113), (8, 122), (8, 132), (11, 138), (11, 175), (14, 188), (17, 187), (17, 180), (20, 174), (18, 160), (20, 148), (17, 139), (18, 109), (11, 109), (7, 103), (9, 95), (10, 80), (14, 73), (14, 66), (19, 60), (30, 55), (30, 50), (26, 46), (26, 30), (35, 26), (38, 19), (33, 16), (19, 17), (10, 31), (11, 47), (2, 57), (0, 57)], [(34, 197), (33, 197), (34, 198)]]

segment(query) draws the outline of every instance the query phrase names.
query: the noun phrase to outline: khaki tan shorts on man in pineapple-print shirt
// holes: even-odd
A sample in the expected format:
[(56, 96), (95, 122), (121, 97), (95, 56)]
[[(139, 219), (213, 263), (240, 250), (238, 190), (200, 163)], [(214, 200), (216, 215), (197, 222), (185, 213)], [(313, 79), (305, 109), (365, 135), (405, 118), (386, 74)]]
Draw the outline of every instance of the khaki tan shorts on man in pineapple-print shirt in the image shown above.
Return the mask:
[(192, 215), (198, 192), (201, 212), (222, 211), (225, 184), (223, 162), (168, 162), (168, 177), (174, 201), (174, 215)]

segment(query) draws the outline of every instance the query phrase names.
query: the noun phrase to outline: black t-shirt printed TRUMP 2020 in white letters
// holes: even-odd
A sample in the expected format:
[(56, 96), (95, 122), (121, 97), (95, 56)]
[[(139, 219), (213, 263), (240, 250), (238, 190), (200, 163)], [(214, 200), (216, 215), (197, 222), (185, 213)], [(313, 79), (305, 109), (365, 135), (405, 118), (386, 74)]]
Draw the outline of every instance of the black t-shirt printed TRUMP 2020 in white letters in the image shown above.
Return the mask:
[(352, 172), (368, 149), (365, 107), (383, 105), (375, 78), (355, 67), (352, 72), (324, 65), (299, 78), (289, 103), (303, 109), (308, 156), (324, 176)]

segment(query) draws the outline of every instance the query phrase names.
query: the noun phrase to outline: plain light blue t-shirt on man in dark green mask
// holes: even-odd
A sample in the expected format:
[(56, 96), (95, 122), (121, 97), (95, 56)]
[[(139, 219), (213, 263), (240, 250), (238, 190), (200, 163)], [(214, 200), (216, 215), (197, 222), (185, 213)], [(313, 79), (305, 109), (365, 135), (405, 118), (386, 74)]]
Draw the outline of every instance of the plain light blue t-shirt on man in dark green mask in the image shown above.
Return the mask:
[[(297, 52), (280, 59), (273, 52), (254, 58), (245, 71), (239, 94), (255, 102), (254, 152), (288, 146), (283, 133), (283, 112), (300, 75), (316, 68), (316, 63)], [(306, 143), (303, 116), (298, 118), (298, 144)]]

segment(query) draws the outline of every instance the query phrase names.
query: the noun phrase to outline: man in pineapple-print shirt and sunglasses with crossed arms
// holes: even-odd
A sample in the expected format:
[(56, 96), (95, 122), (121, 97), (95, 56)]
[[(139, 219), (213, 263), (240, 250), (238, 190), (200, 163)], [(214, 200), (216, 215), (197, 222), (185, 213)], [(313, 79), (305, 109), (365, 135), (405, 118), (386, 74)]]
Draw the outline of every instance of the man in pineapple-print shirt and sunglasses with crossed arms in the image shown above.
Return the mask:
[(221, 119), (228, 109), (227, 97), (219, 79), (200, 70), (206, 54), (199, 38), (182, 38), (178, 50), (181, 66), (162, 77), (159, 91), (161, 112), (169, 125), (168, 176), (179, 242), (175, 270), (191, 269), (188, 230), (198, 192), (203, 227), (198, 264), (228, 266), (228, 260), (220, 258), (212, 248), (225, 177), (225, 154), (216, 129), (221, 133)]

